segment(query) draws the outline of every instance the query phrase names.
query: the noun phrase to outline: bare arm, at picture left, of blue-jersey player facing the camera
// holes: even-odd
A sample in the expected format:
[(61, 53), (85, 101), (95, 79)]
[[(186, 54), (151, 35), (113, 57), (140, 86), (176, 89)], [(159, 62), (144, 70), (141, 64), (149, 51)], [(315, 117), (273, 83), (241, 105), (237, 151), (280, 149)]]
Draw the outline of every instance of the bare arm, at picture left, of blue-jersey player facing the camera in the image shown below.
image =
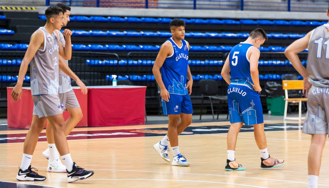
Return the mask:
[(164, 42), (161, 45), (160, 51), (158, 53), (157, 58), (155, 59), (155, 63), (153, 65), (153, 69), (152, 69), (155, 80), (157, 81), (157, 83), (158, 83), (158, 85), (160, 86), (160, 89), (161, 89), (161, 97), (167, 102), (169, 102), (170, 95), (169, 95), (169, 92), (165, 88), (164, 83), (162, 81), (160, 68), (164, 64), (164, 60), (169, 55), (171, 55), (173, 53), (172, 50), (173, 49), (172, 49), (171, 43), (170, 42)]

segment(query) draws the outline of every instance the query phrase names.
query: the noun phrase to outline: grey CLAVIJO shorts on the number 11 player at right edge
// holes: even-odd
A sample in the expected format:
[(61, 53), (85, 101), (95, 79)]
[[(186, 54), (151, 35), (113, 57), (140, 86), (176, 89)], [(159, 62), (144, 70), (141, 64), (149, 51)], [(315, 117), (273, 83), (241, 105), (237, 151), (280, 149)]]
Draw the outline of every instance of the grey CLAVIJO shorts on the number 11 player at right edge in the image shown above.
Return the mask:
[(307, 96), (307, 114), (303, 133), (327, 134), (329, 120), (329, 88), (312, 86)]

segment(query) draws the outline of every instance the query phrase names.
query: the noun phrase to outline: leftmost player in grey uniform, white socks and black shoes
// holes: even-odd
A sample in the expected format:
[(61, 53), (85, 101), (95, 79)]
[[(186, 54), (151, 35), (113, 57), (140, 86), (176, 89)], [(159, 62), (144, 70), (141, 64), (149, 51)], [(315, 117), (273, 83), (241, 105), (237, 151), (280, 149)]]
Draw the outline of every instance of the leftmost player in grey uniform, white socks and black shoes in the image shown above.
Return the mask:
[[(50, 121), (54, 128), (55, 144), (66, 166), (67, 181), (73, 182), (93, 175), (92, 171), (85, 171), (78, 167), (71, 158), (65, 138), (65, 122), (60, 99), (58, 98), (58, 60), (59, 55), (69, 60), (72, 54), (70, 30), (64, 30), (66, 46), (64, 47), (56, 35), (55, 29), (60, 30), (64, 25), (64, 12), (58, 6), (46, 9), (47, 22), (32, 34), (31, 41), (21, 63), (18, 80), (13, 88), (12, 97), (17, 101), (22, 94), (23, 78), (29, 62), (31, 62), (31, 93), (34, 101), (34, 112), (31, 127), (24, 141), (21, 167), (16, 179), (21, 181), (43, 181), (45, 176), (32, 171), (31, 160), (38, 137), (46, 123)], [(37, 114), (37, 115), (35, 115)]]

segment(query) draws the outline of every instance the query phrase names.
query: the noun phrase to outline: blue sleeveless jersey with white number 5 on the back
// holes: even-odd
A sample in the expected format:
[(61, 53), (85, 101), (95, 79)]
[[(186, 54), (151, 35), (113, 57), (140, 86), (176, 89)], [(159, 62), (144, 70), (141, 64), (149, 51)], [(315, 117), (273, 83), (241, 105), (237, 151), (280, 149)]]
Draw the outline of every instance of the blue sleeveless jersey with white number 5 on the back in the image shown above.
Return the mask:
[(250, 73), (250, 62), (247, 56), (248, 50), (253, 45), (248, 43), (240, 42), (235, 45), (230, 52), (230, 69), (231, 69), (231, 80), (243, 79), (247, 82), (252, 82)]

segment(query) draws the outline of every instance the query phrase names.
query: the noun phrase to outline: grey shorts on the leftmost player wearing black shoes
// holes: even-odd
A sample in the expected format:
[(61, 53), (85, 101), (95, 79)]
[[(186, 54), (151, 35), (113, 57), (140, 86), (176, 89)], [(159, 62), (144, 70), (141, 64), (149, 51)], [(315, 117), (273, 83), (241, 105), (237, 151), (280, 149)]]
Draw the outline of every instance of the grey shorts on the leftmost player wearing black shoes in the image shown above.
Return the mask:
[(60, 98), (56, 94), (33, 95), (33, 115), (42, 117), (63, 114)]

